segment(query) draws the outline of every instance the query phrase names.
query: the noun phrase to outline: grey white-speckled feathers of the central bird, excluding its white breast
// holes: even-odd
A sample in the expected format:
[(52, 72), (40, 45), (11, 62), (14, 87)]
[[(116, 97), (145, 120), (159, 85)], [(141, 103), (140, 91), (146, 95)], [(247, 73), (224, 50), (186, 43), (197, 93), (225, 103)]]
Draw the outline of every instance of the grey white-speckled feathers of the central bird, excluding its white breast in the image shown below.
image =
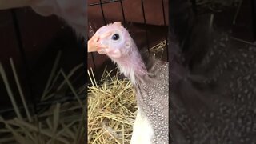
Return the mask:
[[(152, 64), (150, 64), (152, 62)], [(148, 60), (146, 68), (149, 75), (139, 77), (134, 86), (138, 107), (150, 121), (154, 129), (154, 144), (168, 143), (168, 63), (156, 59)]]

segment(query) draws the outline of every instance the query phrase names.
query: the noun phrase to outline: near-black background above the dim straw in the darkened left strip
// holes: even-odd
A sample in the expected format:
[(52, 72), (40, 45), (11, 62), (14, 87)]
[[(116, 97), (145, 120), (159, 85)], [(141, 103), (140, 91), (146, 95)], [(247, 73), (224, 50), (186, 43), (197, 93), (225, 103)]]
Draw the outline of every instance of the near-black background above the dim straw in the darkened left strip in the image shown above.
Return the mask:
[[(34, 106), (46, 86), (58, 50), (62, 50), (58, 70), (63, 68), (66, 73), (85, 60), (82, 38), (76, 38), (70, 26), (56, 16), (42, 17), (29, 7), (0, 10), (0, 43), (0, 62), (6, 70), (14, 98), (18, 106), (22, 106), (9, 58), (14, 60), (31, 113), (35, 112)], [(84, 85), (82, 78), (77, 83)], [(0, 114), (10, 116), (12, 105), (2, 78), (0, 95)]]

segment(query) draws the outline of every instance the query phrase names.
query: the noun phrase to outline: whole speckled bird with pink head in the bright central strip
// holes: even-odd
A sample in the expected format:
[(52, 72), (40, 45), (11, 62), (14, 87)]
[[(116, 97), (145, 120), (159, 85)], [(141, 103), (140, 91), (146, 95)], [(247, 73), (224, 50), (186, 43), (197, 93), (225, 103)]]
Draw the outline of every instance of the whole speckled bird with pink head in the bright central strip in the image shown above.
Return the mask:
[(167, 144), (168, 63), (157, 59), (143, 61), (134, 40), (121, 22), (102, 26), (88, 41), (88, 52), (106, 54), (130, 79), (136, 90), (138, 114), (132, 144)]

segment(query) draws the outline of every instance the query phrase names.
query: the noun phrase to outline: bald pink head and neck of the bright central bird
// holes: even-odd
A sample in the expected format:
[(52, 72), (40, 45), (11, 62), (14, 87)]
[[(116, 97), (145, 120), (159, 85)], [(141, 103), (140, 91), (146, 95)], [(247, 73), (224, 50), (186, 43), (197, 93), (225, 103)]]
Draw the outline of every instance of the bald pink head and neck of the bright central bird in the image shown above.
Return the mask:
[(135, 83), (138, 75), (146, 74), (146, 68), (133, 38), (121, 24), (114, 22), (102, 26), (88, 41), (88, 52), (106, 54), (118, 64), (120, 72)]

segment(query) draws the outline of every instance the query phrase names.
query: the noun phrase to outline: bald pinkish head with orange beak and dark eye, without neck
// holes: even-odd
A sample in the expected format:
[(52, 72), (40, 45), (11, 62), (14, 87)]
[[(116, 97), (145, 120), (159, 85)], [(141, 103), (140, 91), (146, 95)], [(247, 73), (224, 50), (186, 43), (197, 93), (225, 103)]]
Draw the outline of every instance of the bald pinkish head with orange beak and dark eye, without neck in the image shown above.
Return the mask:
[(110, 58), (121, 58), (137, 47), (121, 22), (102, 26), (88, 42), (88, 52), (98, 51)]

